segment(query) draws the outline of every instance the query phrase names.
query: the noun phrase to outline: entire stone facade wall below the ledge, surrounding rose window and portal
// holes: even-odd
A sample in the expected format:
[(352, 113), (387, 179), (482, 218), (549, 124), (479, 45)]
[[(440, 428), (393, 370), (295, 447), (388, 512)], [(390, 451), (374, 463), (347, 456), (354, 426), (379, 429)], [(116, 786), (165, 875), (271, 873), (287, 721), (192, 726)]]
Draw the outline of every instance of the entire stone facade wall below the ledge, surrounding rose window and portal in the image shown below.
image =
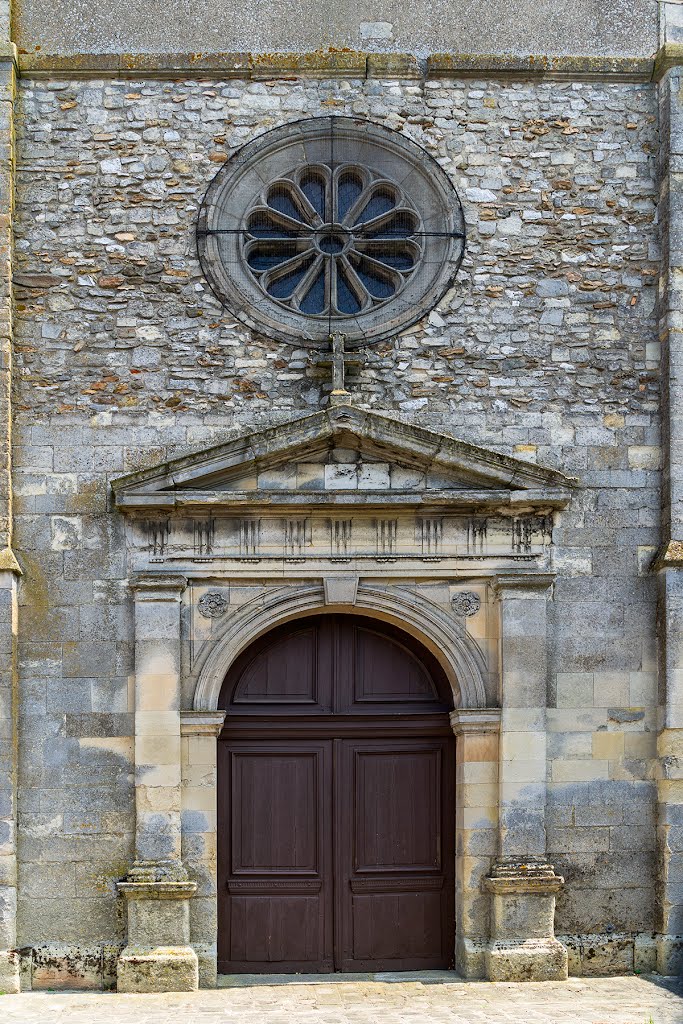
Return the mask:
[(580, 477), (550, 605), (556, 930), (588, 936), (571, 942), (589, 972), (614, 950), (633, 965), (631, 936), (654, 928), (654, 87), (24, 80), (18, 942), (41, 947), (36, 984), (59, 983), (70, 944), (73, 977), (108, 983), (123, 940), (132, 611), (109, 480), (316, 409), (329, 390), (310, 353), (251, 337), (207, 290), (198, 205), (237, 147), (330, 113), (436, 157), (469, 230), (454, 288), (367, 351), (355, 400)]

